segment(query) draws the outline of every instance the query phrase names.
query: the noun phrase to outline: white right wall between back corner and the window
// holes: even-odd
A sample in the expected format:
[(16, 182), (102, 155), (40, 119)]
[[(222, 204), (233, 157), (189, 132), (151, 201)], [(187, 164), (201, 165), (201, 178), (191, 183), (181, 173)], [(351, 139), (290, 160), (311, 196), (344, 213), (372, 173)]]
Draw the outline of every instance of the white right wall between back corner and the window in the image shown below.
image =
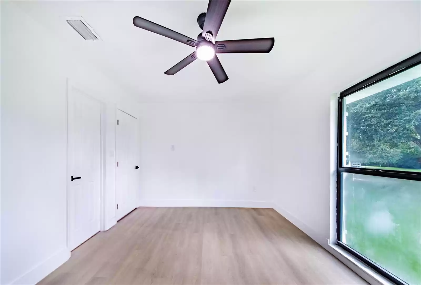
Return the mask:
[(273, 106), (274, 145), (277, 146), (273, 156), (273, 201), (275, 209), (285, 218), (317, 242), (327, 245), (331, 93), (318, 85), (320, 82), (307, 83), (291, 90), (282, 102)]

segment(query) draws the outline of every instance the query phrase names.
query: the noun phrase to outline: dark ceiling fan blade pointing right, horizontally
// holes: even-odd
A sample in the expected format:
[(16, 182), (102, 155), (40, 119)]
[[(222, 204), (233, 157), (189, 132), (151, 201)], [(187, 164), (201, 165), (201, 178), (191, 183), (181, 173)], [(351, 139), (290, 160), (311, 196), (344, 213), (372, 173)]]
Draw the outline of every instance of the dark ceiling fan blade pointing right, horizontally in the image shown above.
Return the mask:
[(217, 54), (269, 53), (274, 44), (275, 38), (218, 40), (215, 42), (215, 52)]

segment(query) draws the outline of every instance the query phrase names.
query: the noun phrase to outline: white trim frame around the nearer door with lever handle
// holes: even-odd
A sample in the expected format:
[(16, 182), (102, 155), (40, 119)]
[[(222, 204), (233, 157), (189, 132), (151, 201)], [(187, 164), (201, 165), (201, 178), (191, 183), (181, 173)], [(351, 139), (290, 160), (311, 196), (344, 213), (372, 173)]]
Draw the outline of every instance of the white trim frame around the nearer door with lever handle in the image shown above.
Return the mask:
[[(106, 224), (105, 221), (105, 205), (106, 205), (106, 197), (105, 197), (105, 158), (106, 158), (106, 105), (104, 102), (99, 100), (97, 97), (92, 96), (93, 93), (91, 90), (86, 89), (86, 91), (81, 90), (81, 85), (75, 83), (75, 81), (71, 81), (69, 83), (69, 78), (66, 78), (66, 246), (70, 250), (70, 200), (69, 200), (69, 99), (72, 96), (70, 93), (70, 89), (74, 88), (80, 93), (90, 97), (91, 99), (95, 100), (99, 103), (99, 113), (100, 113), (100, 129), (99, 129), (99, 136), (100, 136), (100, 145), (99, 145), (99, 231), (104, 230), (104, 226)], [(84, 89), (84, 88), (83, 88)], [(91, 238), (91, 237), (90, 237)]]

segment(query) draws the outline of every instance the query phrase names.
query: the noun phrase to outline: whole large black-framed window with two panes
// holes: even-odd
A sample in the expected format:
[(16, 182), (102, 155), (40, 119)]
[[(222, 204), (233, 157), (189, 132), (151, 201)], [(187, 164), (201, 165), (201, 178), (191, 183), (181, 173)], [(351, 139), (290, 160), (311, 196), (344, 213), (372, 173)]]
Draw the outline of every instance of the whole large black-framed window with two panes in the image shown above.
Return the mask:
[(338, 245), (421, 284), (421, 53), (341, 92)]

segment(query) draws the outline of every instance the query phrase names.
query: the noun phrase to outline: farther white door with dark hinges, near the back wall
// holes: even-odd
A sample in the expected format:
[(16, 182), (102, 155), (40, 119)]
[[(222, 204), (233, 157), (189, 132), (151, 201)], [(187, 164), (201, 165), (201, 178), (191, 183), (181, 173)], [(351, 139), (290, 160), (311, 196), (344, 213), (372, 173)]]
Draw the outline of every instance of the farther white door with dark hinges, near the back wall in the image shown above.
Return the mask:
[(120, 220), (137, 207), (138, 161), (137, 119), (117, 109), (116, 132), (116, 218)]

